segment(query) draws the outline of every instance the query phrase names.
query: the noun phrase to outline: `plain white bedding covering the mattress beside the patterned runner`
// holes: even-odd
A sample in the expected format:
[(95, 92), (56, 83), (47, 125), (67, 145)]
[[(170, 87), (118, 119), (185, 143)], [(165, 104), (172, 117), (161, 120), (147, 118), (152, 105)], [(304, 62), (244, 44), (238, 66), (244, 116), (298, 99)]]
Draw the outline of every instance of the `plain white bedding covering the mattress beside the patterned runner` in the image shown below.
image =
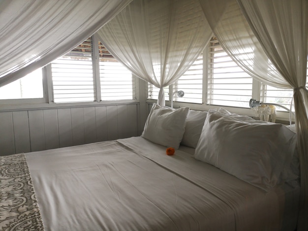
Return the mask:
[(45, 230), (281, 229), (285, 190), (265, 194), (181, 149), (165, 151), (133, 137), (26, 153)]

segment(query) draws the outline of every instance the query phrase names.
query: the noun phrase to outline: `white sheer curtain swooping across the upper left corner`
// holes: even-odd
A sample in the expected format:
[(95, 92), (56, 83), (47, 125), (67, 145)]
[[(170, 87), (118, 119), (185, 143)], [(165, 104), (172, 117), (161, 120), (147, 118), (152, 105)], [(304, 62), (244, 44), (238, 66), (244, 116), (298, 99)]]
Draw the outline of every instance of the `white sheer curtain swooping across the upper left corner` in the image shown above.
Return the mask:
[(132, 0), (1, 0), (0, 87), (78, 46)]

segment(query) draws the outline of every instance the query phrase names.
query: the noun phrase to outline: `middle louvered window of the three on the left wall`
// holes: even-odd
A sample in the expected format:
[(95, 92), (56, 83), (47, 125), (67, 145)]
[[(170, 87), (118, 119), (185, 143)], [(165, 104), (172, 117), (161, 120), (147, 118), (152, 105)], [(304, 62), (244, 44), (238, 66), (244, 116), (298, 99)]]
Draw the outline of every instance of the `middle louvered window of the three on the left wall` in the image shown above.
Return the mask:
[(94, 101), (92, 38), (51, 63), (55, 103)]

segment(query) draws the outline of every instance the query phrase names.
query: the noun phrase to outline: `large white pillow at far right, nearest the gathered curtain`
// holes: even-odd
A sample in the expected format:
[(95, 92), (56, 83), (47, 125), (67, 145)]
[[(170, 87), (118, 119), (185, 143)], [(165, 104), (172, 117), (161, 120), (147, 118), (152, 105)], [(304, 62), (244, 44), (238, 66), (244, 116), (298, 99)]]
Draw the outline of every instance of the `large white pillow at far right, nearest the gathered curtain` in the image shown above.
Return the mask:
[(210, 110), (194, 158), (268, 191), (283, 183), (295, 138), (282, 124), (249, 123)]

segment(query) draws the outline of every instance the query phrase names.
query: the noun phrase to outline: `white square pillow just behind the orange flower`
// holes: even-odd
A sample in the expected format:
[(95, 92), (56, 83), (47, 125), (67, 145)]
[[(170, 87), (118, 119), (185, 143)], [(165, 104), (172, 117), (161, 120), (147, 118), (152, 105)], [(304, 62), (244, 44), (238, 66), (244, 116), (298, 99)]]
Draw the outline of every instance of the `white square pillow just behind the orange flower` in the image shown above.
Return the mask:
[(178, 149), (189, 108), (170, 109), (153, 104), (142, 137), (155, 144)]

